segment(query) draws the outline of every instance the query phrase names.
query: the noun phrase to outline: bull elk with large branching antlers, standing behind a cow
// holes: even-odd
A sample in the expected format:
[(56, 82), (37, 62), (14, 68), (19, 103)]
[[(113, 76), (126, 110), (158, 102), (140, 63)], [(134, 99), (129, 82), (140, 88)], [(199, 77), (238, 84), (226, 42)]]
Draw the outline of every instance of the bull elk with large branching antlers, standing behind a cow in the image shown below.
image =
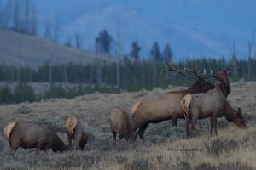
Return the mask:
[(212, 77), (212, 71), (210, 76), (206, 75), (206, 71), (199, 75), (195, 71), (194, 64), (191, 69), (184, 68), (177, 70), (175, 65), (173, 67), (169, 65), (168, 59), (166, 59), (166, 65), (168, 66), (166, 71), (173, 71), (185, 77), (193, 78), (196, 82), (188, 89), (167, 92), (152, 99), (145, 99), (132, 106), (131, 115), (135, 126), (134, 131), (139, 128), (137, 134), (140, 139), (143, 139), (143, 133), (149, 123), (159, 123), (172, 119), (172, 125), (177, 126), (178, 118), (184, 118), (180, 101), (186, 94), (206, 93), (208, 90), (214, 88), (212, 83), (205, 81), (207, 78)]

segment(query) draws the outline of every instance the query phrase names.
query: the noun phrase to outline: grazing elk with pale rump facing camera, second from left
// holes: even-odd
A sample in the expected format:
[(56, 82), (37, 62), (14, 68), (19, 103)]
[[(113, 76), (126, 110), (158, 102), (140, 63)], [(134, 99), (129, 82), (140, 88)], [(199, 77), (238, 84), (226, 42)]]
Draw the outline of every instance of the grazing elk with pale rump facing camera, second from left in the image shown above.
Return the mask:
[(84, 150), (90, 140), (90, 127), (87, 122), (76, 116), (69, 116), (65, 123), (68, 139), (68, 148)]

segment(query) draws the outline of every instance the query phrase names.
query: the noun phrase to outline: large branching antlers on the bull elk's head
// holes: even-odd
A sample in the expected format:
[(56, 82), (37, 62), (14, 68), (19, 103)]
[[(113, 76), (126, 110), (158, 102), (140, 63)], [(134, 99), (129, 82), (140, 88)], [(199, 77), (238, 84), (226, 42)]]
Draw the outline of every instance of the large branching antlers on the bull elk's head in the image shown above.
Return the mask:
[[(212, 77), (212, 73), (213, 73), (213, 72), (211, 71), (211, 74), (210, 74), (210, 75), (206, 75), (207, 71), (204, 69), (204, 72), (201, 74), (201, 76), (199, 76), (198, 73), (197, 73), (197, 71), (195, 71), (195, 62), (194, 62), (194, 60), (193, 60), (193, 62), (192, 62), (192, 68), (190, 68), (190, 69), (189, 69), (189, 68), (186, 68), (186, 67), (184, 66), (183, 69), (178, 70), (175, 65), (172, 64), (172, 66), (171, 66), (171, 65), (169, 64), (169, 58), (168, 58), (168, 57), (166, 57), (166, 65), (168, 66), (168, 69), (167, 69), (166, 71), (162, 71), (162, 72), (160, 73), (160, 75), (163, 74), (163, 73), (165, 73), (165, 72), (167, 72), (167, 71), (173, 71), (173, 72), (175, 72), (176, 74), (178, 73), (178, 74), (183, 75), (183, 76), (185, 76), (185, 77), (194, 78), (194, 79), (198, 80), (198, 79), (207, 79), (207, 78), (209, 78), (209, 77)], [(187, 72), (193, 73), (194, 76), (189, 75)]]

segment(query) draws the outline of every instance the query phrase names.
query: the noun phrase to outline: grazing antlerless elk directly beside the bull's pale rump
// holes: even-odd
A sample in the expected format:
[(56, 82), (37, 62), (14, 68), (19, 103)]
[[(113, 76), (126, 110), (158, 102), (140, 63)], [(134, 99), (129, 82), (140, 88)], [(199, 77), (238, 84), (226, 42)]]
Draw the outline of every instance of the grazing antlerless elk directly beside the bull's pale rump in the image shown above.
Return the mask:
[(134, 123), (131, 114), (119, 108), (114, 108), (109, 114), (110, 127), (113, 132), (113, 139), (116, 140), (116, 133), (119, 133), (119, 139), (133, 139)]

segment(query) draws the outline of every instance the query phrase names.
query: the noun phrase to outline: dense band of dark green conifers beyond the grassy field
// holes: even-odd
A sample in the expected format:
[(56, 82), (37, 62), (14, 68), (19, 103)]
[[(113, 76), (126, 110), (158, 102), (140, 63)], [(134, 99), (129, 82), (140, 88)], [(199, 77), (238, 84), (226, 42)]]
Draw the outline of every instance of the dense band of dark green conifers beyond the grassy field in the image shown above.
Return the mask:
[[(154, 62), (153, 59), (138, 59), (134, 65), (134, 58), (125, 56), (120, 63), (120, 84), (117, 86), (116, 80), (116, 63), (102, 64), (102, 82), (98, 82), (96, 63), (88, 65), (68, 63), (67, 65), (45, 65), (38, 68), (21, 67), (15, 68), (8, 65), (0, 65), (0, 81), (6, 82), (7, 85), (0, 88), (0, 103), (20, 103), (23, 101), (37, 101), (40, 99), (50, 98), (68, 98), (71, 99), (78, 95), (100, 93), (119, 93), (120, 91), (136, 91), (140, 89), (152, 89), (154, 87), (167, 88), (172, 85), (189, 86), (193, 80), (173, 73), (160, 75), (161, 71), (166, 69), (165, 60)], [(253, 59), (251, 59), (252, 62)], [(177, 62), (178, 68), (183, 65), (191, 67), (193, 63), (198, 71), (203, 72), (204, 69), (226, 69), (232, 66), (230, 79), (232, 81), (244, 80), (250, 81), (248, 75), (248, 60), (232, 59), (194, 59)], [(255, 60), (253, 60), (255, 62)], [(172, 60), (171, 60), (172, 63)], [(154, 69), (155, 75), (154, 75)], [(52, 71), (50, 73), (50, 71)], [(256, 70), (251, 73), (254, 77)], [(253, 78), (255, 80), (255, 78)], [(211, 81), (211, 80), (210, 80)], [(8, 86), (10, 82), (18, 82), (14, 90)], [(36, 94), (29, 82), (49, 82), (50, 88), (44, 94)], [(85, 88), (81, 85), (77, 88), (63, 88), (56, 85), (57, 82), (68, 82), (76, 84), (86, 84)]]

